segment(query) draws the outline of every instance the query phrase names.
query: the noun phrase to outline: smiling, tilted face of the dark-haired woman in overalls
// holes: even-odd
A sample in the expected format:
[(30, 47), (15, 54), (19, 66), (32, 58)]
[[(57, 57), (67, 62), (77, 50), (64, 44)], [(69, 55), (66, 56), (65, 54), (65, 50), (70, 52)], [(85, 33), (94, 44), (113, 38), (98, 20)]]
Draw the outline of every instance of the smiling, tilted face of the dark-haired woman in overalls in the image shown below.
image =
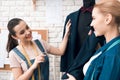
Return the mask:
[(24, 42), (32, 40), (31, 29), (27, 26), (27, 24), (24, 21), (20, 21), (20, 23), (16, 25), (13, 28), (13, 30), (15, 31), (16, 34), (14, 38)]

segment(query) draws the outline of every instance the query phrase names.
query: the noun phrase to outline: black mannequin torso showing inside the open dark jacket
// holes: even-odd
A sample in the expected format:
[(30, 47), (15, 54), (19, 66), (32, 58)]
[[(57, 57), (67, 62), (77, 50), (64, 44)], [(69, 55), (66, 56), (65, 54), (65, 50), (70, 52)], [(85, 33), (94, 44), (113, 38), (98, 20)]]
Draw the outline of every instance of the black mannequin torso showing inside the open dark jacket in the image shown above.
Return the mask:
[(90, 30), (90, 23), (92, 21), (91, 13), (81, 13), (79, 15), (79, 22), (78, 22), (78, 43), (82, 45), (85, 41), (85, 38), (88, 36), (88, 32)]

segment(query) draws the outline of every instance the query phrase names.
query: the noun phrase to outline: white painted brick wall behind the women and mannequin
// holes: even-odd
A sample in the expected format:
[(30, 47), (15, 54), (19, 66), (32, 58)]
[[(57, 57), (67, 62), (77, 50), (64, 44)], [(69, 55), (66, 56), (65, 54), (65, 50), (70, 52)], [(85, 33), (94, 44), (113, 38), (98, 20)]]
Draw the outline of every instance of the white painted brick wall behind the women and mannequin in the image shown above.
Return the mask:
[[(47, 24), (45, 0), (36, 0), (36, 11), (33, 10), (32, 0), (0, 0), (0, 27), (6, 27), (8, 20), (13, 17), (22, 18), (31, 28), (48, 29), (48, 42), (57, 47), (62, 40), (63, 25), (66, 16), (78, 10), (81, 5), (82, 0), (62, 0), (62, 23)], [(49, 55), (49, 58), (50, 80), (60, 80), (60, 57)], [(53, 62), (54, 59), (55, 62)], [(0, 80), (9, 80), (9, 75), (9, 71), (0, 71)]]

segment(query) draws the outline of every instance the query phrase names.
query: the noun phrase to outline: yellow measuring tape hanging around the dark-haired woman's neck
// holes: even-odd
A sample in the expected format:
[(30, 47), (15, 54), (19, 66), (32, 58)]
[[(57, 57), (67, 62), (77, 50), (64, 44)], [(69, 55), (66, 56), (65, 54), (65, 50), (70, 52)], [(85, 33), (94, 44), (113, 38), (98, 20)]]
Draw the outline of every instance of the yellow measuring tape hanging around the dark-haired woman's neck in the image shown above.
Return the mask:
[[(38, 53), (37, 47), (35, 46), (35, 44), (33, 42), (31, 43), (31, 46), (33, 48), (33, 51), (35, 52), (35, 56), (38, 56), (39, 53)], [(20, 48), (21, 48), (22, 54), (25, 56), (25, 58), (28, 62), (28, 65), (31, 67), (32, 63), (30, 62), (30, 58), (29, 58), (24, 46), (22, 45), (22, 43), (20, 43)], [(40, 65), (38, 65), (38, 79), (40, 80)], [(34, 74), (32, 75), (32, 80), (35, 80)]]

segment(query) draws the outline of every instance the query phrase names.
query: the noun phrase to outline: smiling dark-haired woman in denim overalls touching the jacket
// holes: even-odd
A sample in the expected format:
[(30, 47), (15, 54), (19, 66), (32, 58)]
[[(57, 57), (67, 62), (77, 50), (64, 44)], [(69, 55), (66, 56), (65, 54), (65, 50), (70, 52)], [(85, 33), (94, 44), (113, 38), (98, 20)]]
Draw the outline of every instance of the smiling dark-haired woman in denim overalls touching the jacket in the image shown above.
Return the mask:
[(26, 22), (13, 18), (8, 22), (7, 51), (15, 80), (49, 80), (49, 59), (46, 53), (63, 55), (69, 36), (70, 20), (59, 48), (41, 39), (32, 40), (32, 31)]

